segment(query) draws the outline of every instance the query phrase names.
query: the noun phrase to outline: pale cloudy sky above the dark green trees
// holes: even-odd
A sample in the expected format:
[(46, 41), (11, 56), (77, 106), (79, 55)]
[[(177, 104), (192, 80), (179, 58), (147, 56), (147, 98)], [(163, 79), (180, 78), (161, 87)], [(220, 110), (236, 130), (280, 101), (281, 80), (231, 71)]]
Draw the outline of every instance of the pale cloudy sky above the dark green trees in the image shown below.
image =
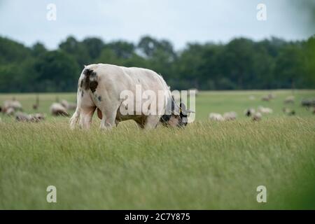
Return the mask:
[[(48, 3), (57, 7), (56, 21), (46, 19)], [(267, 6), (266, 21), (256, 18), (258, 3)], [(69, 35), (137, 42), (149, 34), (179, 49), (239, 36), (304, 39), (314, 34), (310, 17), (294, 0), (0, 0), (0, 35), (53, 49)]]

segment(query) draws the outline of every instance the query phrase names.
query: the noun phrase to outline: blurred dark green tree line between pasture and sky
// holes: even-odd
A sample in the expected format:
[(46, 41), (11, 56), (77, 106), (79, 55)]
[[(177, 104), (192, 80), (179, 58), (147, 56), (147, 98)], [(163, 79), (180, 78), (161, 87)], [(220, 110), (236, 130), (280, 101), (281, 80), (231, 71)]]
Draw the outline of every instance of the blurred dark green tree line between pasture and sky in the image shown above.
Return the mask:
[(188, 43), (177, 51), (170, 41), (151, 36), (138, 43), (69, 36), (56, 50), (0, 37), (0, 92), (76, 91), (83, 66), (93, 63), (153, 69), (173, 90), (314, 88), (315, 36)]

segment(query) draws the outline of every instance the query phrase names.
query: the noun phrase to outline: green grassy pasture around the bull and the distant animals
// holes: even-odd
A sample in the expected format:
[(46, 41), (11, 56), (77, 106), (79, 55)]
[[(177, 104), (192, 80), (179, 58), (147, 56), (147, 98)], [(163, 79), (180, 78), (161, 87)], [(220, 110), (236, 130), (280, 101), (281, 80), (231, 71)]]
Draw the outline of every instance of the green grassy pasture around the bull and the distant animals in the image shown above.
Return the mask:
[[(269, 92), (276, 98), (262, 102)], [(286, 116), (292, 94), (297, 115)], [(34, 113), (35, 94), (0, 94), (0, 103), (13, 96)], [(39, 97), (42, 123), (1, 114), (0, 209), (315, 209), (315, 115), (300, 106), (315, 90), (201, 92), (194, 123), (149, 131), (128, 121), (101, 132), (97, 116), (91, 130), (71, 131), (69, 118), (48, 112), (56, 97), (76, 94)], [(244, 116), (259, 105), (274, 113)], [(228, 111), (237, 120), (207, 119)], [(47, 186), (56, 186), (57, 203), (46, 201)], [(256, 201), (258, 186), (266, 203)]]

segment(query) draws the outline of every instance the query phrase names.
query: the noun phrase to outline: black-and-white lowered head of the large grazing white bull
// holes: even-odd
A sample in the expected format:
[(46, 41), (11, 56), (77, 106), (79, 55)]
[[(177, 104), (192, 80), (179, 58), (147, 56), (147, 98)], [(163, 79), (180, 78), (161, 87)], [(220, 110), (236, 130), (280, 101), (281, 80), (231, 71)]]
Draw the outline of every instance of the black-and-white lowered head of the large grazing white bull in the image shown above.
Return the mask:
[(166, 127), (186, 127), (189, 113), (194, 112), (186, 110), (186, 105), (183, 103), (177, 106), (172, 97), (172, 114), (163, 115), (160, 118), (160, 122)]

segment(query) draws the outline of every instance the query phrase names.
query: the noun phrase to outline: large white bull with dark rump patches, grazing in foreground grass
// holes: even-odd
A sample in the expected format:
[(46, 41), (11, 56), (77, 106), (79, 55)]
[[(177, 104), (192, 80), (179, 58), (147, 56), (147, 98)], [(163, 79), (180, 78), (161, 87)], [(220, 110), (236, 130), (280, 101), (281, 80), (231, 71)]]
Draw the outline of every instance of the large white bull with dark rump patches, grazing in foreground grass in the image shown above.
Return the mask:
[[(164, 92), (162, 104), (160, 98), (152, 100), (149, 108), (154, 108), (153, 113), (144, 113), (143, 108), (125, 104), (121, 99), (122, 92), (129, 91), (137, 96), (137, 87), (141, 91), (151, 91), (156, 96)], [(159, 92), (160, 91), (160, 92)], [(135, 97), (137, 98), (137, 97)], [(80, 127), (89, 128), (92, 116), (97, 109), (97, 116), (101, 119), (100, 128), (110, 129), (123, 120), (134, 120), (141, 128), (155, 128), (159, 122), (165, 126), (183, 127), (187, 124), (185, 105), (180, 108), (174, 102), (169, 87), (162, 76), (154, 71), (141, 68), (126, 68), (111, 64), (90, 64), (85, 66), (78, 80), (77, 107), (70, 119), (73, 129), (80, 118)], [(162, 106), (161, 106), (162, 105)], [(121, 111), (133, 113), (121, 113)]]

